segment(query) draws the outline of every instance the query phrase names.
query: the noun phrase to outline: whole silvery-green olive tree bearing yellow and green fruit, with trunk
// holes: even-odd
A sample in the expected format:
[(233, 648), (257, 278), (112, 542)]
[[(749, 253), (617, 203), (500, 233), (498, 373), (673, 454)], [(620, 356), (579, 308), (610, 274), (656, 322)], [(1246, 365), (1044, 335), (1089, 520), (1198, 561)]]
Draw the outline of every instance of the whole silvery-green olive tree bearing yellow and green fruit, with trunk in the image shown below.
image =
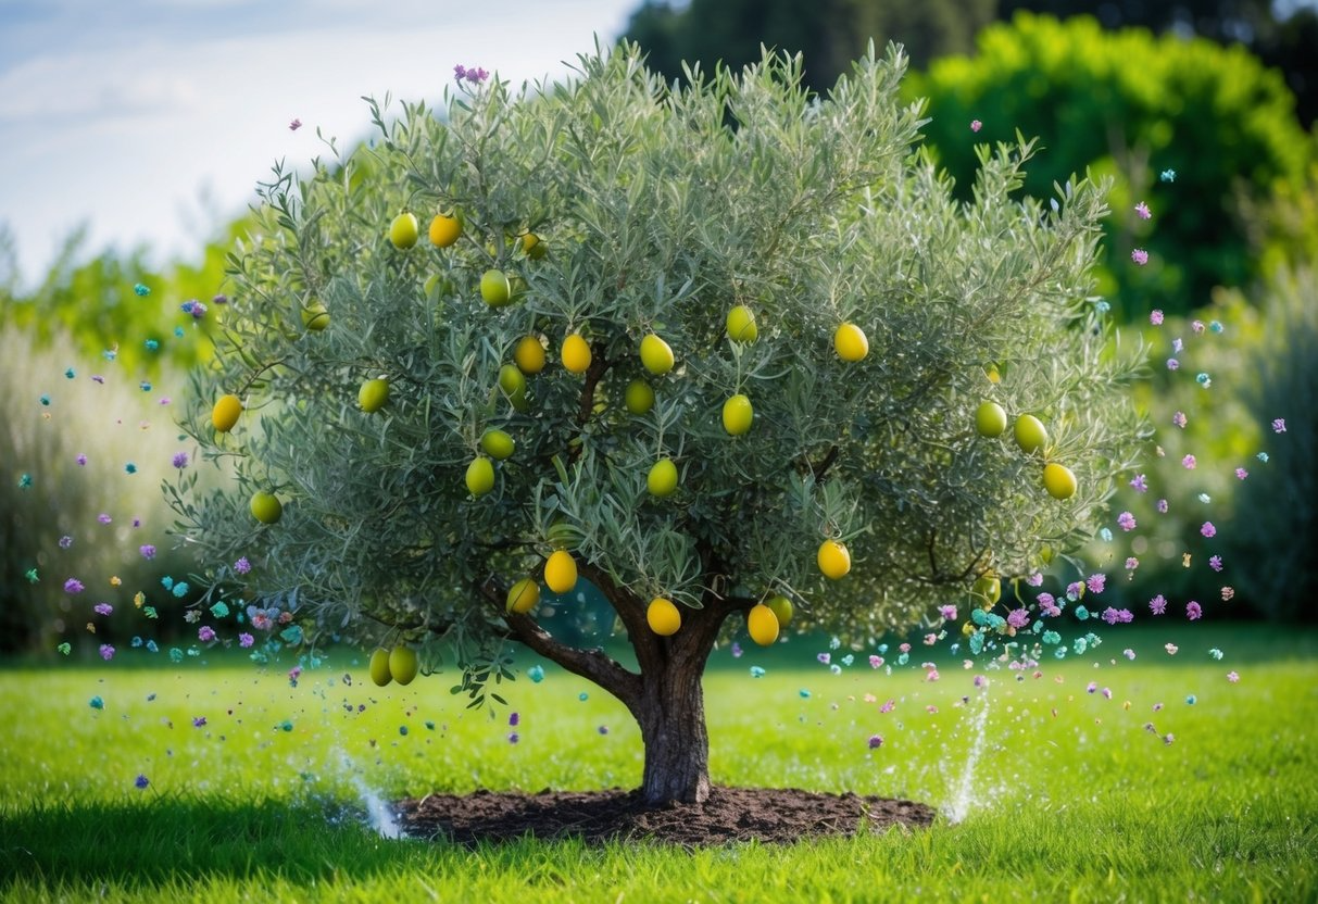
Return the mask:
[[(746, 618), (863, 643), (1082, 542), (1137, 434), (1089, 297), (1103, 187), (1014, 198), (1020, 142), (954, 202), (900, 50), (826, 98), (800, 71), (666, 86), (621, 47), (519, 92), (468, 74), (443, 116), (372, 103), (369, 148), (277, 169), (195, 381), (232, 480), (175, 488), (181, 531), (258, 563), (293, 639), (451, 655), (473, 702), (511, 643), (594, 681), (651, 803), (708, 795), (701, 675)], [(1046, 435), (977, 430), (985, 402)], [(613, 621), (569, 643), (538, 604), (579, 576)]]

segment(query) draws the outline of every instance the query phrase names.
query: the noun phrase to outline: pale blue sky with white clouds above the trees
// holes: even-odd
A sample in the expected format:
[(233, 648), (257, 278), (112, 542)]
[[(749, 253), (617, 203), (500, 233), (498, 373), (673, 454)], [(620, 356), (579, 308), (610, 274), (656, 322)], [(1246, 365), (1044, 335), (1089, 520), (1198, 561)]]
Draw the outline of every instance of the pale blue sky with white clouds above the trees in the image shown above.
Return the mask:
[(457, 63), (560, 78), (637, 5), (0, 0), (0, 224), (22, 282), (80, 224), (82, 257), (194, 260), (277, 159), (326, 152), (316, 128), (340, 149), (366, 137), (362, 95), (435, 103)]

